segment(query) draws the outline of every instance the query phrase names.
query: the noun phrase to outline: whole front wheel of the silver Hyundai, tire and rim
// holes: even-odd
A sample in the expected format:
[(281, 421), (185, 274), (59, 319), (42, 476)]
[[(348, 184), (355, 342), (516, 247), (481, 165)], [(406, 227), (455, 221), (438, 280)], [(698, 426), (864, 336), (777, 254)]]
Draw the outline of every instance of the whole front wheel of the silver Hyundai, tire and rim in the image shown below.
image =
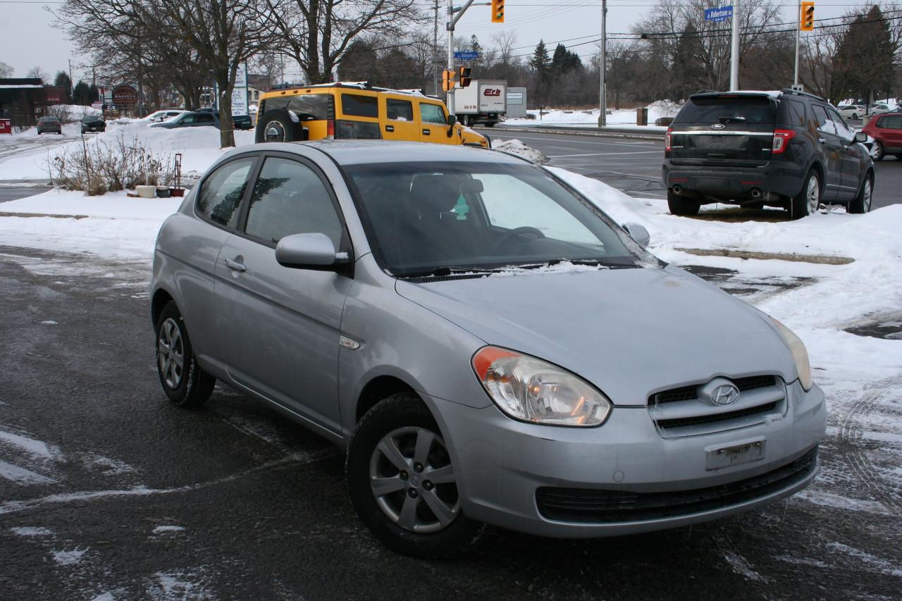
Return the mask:
[(393, 394), (364, 415), (345, 472), (357, 515), (397, 553), (424, 559), (454, 555), (483, 530), (461, 511), (459, 473), (416, 393)]

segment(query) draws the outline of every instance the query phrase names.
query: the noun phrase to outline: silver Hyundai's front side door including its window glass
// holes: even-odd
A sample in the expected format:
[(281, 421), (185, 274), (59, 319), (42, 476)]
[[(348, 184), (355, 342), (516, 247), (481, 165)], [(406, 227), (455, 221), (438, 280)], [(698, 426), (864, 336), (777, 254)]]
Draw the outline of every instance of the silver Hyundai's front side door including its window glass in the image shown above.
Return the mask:
[(350, 252), (335, 194), (312, 163), (264, 156), (243, 226), (216, 263), (217, 328), (226, 338), (236, 384), (327, 430), (340, 430), (338, 338), (345, 274), (283, 267), (275, 246), (291, 234), (318, 232)]

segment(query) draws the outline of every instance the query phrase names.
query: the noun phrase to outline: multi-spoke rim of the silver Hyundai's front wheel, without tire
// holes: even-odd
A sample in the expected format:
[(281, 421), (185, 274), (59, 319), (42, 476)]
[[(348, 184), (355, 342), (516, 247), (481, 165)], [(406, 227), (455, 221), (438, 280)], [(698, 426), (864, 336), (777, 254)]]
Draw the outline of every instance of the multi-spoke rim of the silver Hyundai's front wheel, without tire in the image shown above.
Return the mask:
[(454, 466), (445, 441), (431, 430), (386, 434), (373, 449), (369, 476), (382, 513), (406, 531), (438, 532), (460, 515)]

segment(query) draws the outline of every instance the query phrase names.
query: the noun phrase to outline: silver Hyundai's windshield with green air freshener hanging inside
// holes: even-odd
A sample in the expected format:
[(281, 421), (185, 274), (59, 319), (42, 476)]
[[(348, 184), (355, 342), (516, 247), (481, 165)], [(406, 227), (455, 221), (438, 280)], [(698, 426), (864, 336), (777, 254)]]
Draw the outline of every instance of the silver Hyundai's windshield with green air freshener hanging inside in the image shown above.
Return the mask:
[(588, 200), (530, 165), (351, 165), (384, 269), (422, 276), (572, 262), (634, 266), (644, 251)]

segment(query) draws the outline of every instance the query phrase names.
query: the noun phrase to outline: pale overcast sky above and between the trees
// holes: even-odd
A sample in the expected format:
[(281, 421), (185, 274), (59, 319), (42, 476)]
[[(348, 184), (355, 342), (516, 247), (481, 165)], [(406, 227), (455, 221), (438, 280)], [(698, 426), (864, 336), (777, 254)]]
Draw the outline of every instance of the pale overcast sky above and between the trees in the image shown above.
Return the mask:
[[(629, 32), (630, 25), (640, 20), (649, 12), (656, 0), (609, 0), (608, 32)], [(446, 0), (438, 0), (439, 36), (444, 40), (444, 19)], [(421, 5), (434, 5), (432, 0), (419, 0)], [(457, 0), (456, 5), (462, 5)], [(517, 53), (528, 53), (544, 39), (554, 50), (558, 41), (580, 54), (584, 60), (596, 50), (594, 43), (573, 46), (600, 36), (601, 32), (601, 0), (508, 0), (506, 3), (505, 23), (491, 23), (488, 6), (472, 6), (457, 23), (456, 35), (469, 38), (476, 34), (483, 46), (492, 45), (492, 35), (502, 31), (517, 34), (517, 46), (524, 47)], [(730, 4), (724, 0), (722, 5)], [(788, 22), (796, 18), (796, 2), (784, 0), (784, 19)], [(852, 0), (821, 0), (816, 3), (815, 18), (823, 19), (840, 16), (856, 6), (867, 5), (867, 2)], [(86, 57), (75, 53), (72, 44), (66, 40), (63, 32), (52, 27), (53, 17), (45, 6), (58, 6), (40, 0), (0, 0), (0, 61), (14, 68), (14, 77), (25, 77), (26, 72), (34, 66), (40, 66), (51, 79), (60, 69), (69, 68), (72, 60), (73, 75), (78, 79), (90, 79), (90, 69), (81, 67), (89, 62)], [(577, 38), (577, 39), (574, 39)], [(579, 39), (583, 38), (583, 39)], [(444, 42), (440, 41), (440, 44)], [(286, 74), (286, 79), (292, 79)], [(297, 77), (297, 76), (296, 76)]]

